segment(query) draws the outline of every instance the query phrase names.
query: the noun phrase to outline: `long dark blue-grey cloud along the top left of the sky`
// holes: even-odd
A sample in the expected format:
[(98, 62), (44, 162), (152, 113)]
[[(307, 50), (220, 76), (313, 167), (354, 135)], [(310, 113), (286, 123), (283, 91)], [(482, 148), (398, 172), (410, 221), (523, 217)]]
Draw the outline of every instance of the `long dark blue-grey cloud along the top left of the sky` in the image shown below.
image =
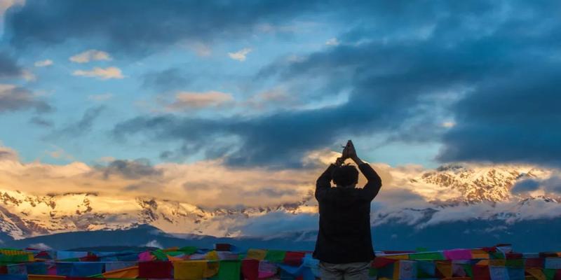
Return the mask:
[(255, 25), (290, 20), (315, 1), (29, 0), (6, 13), (17, 47), (96, 40), (111, 51), (151, 52), (180, 41), (251, 34)]

